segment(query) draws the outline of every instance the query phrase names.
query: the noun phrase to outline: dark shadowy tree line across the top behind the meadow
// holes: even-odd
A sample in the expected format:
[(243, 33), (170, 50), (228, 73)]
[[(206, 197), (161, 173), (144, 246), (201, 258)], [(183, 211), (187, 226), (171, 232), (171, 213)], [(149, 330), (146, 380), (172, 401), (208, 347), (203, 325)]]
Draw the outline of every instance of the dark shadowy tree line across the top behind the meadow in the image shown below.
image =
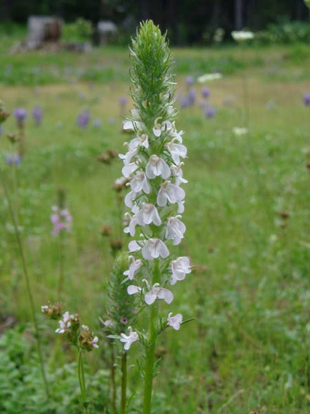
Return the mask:
[(200, 41), (218, 27), (260, 30), (281, 19), (309, 18), (303, 0), (0, 0), (0, 5), (0, 20), (17, 23), (30, 14), (52, 14), (65, 21), (109, 19), (132, 30), (138, 21), (153, 19), (176, 44)]

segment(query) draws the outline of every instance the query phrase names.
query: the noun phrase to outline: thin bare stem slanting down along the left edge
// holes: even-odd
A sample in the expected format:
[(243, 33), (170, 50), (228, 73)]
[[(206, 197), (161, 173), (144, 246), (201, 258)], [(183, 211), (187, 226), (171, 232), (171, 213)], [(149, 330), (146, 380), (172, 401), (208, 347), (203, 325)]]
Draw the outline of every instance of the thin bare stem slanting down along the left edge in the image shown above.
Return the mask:
[(13, 223), (13, 226), (14, 226), (14, 233), (15, 233), (15, 237), (17, 239), (17, 246), (19, 248), (19, 255), (21, 257), (21, 264), (23, 266), (23, 275), (25, 277), (25, 285), (26, 285), (29, 304), (30, 304), (30, 313), (31, 313), (31, 317), (32, 317), (32, 323), (33, 323), (33, 326), (34, 326), (35, 337), (37, 339), (37, 352), (38, 352), (39, 362), (40, 362), (40, 366), (41, 366), (41, 373), (42, 373), (45, 393), (46, 393), (46, 397), (50, 398), (50, 393), (49, 393), (49, 389), (48, 389), (48, 381), (46, 379), (45, 368), (44, 368), (44, 364), (43, 364), (43, 354), (42, 354), (42, 346), (41, 346), (41, 337), (40, 337), (39, 325), (38, 325), (38, 322), (37, 322), (36, 312), (35, 312), (35, 308), (34, 308), (34, 300), (33, 300), (31, 286), (30, 286), (30, 277), (29, 277), (29, 274), (28, 274), (28, 267), (27, 267), (27, 262), (26, 262), (26, 259), (25, 259), (25, 253), (23, 251), (23, 243), (21, 241), (21, 235), (19, 233), (19, 226), (17, 224), (17, 219), (14, 215), (14, 210), (13, 210), (13, 207), (12, 207), (12, 200), (11, 200), (11, 197), (10, 197), (10, 193), (8, 191), (8, 187), (6, 186), (6, 181), (3, 179), (2, 175), (1, 175), (1, 182), (2, 182), (2, 186), (3, 186), (4, 194), (5, 194), (6, 199), (8, 201), (8, 208), (9, 208), (10, 216), (12, 218), (12, 223)]

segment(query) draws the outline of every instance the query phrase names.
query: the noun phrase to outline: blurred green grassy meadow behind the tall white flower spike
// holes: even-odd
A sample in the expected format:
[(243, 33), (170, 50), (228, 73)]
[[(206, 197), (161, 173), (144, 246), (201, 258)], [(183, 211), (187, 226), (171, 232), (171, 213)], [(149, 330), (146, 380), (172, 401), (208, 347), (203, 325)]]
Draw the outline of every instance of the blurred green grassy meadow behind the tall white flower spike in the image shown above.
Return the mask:
[[(26, 153), (17, 168), (19, 224), (34, 301), (39, 314), (41, 304), (56, 299), (59, 244), (50, 235), (50, 213), (62, 186), (73, 216), (72, 233), (65, 237), (65, 309), (79, 312), (99, 333), (101, 347), (89, 355), (87, 373), (105, 387), (102, 395), (98, 390), (90, 395), (96, 399), (92, 412), (104, 412), (108, 347), (99, 317), (105, 313), (112, 259), (101, 226), (112, 225), (119, 237), (111, 184), (121, 176), (122, 164), (118, 160), (110, 166), (100, 164), (96, 156), (107, 148), (124, 152), (128, 137), (121, 132), (118, 98), (129, 88), (130, 59), (121, 48), (101, 48), (89, 55), (8, 55), (9, 45), (1, 46), (0, 98), (10, 111), (24, 107), (31, 112), (40, 105), (44, 114), (39, 127), (28, 117)], [(173, 53), (177, 95), (185, 93), (187, 75), (217, 70), (223, 79), (207, 85), (209, 101), (216, 108), (213, 119), (203, 115), (197, 84), (198, 101), (178, 116), (177, 126), (186, 132), (189, 184), (183, 215), (187, 233), (176, 250), (200, 266), (174, 290), (172, 309), (195, 320), (178, 333), (169, 331), (161, 337), (163, 360), (156, 378), (154, 414), (249, 414), (255, 409), (261, 414), (307, 414), (310, 107), (304, 106), (302, 94), (310, 92), (310, 47), (191, 48)], [(250, 133), (236, 136), (232, 129), (244, 124), (245, 76)], [(224, 105), (225, 100), (230, 104)], [(101, 128), (92, 126), (92, 121), (84, 130), (76, 126), (76, 115), (83, 108), (90, 110), (92, 121), (102, 120)], [(12, 171), (5, 163), (11, 148), (5, 135), (14, 130), (10, 117), (3, 124), (1, 166), (11, 189)], [(13, 315), (17, 322), (11, 333), (3, 331), (0, 337), (0, 383), (5, 384), (4, 391), (0, 386), (1, 412), (79, 413), (77, 403), (72, 408), (54, 404), (50, 411), (32, 411), (31, 402), (17, 404), (10, 393), (17, 378), (6, 374), (8, 358), (12, 373), (18, 371), (14, 355), (25, 366), (37, 362), (17, 246), (0, 191), (1, 315), (3, 319)], [(282, 210), (290, 213), (286, 221), (279, 215)], [(39, 321), (50, 382), (61, 388), (65, 375), (57, 377), (57, 370), (73, 356), (68, 349), (64, 353), (58, 349), (55, 357), (55, 326), (43, 315)], [(10, 341), (16, 342), (13, 350)], [(130, 364), (136, 364), (138, 355), (139, 346), (133, 346)], [(33, 404), (41, 398), (35, 397), (41, 393), (36, 369), (37, 382), (24, 389), (25, 395), (32, 390)], [(68, 392), (74, 390), (78, 401), (77, 379), (70, 381), (65, 383)], [(142, 389), (136, 368), (130, 369), (129, 388), (136, 393), (130, 413), (139, 413), (138, 408), (134, 411)], [(15, 408), (6, 408), (4, 399)]]

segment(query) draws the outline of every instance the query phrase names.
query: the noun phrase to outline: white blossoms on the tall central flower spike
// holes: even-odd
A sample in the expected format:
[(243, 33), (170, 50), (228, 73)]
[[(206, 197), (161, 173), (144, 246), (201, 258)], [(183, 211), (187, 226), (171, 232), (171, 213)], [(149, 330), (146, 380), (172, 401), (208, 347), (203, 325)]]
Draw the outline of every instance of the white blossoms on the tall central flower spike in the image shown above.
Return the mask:
[[(165, 284), (174, 285), (191, 273), (188, 257), (169, 259), (169, 244), (180, 244), (186, 230), (180, 215), (184, 212), (185, 191), (180, 185), (187, 183), (181, 161), (187, 156), (187, 148), (183, 145), (183, 131), (178, 132), (174, 121), (169, 119), (174, 115), (173, 106), (167, 104), (169, 96), (162, 99), (165, 118), (154, 119), (153, 126), (145, 126), (139, 111), (132, 110), (132, 120), (125, 121), (123, 128), (135, 131), (136, 137), (125, 143), (127, 153), (119, 155), (124, 164), (123, 176), (130, 186), (125, 205), (131, 213), (125, 213), (124, 231), (135, 237), (128, 245), (130, 253), (140, 256), (130, 255), (131, 264), (124, 272), (125, 280), (139, 280), (139, 273), (153, 274), (155, 266), (159, 266), (155, 262), (161, 260), (161, 276), (156, 283), (142, 279), (140, 284), (127, 288), (129, 295), (138, 293), (147, 305), (158, 299), (171, 304), (174, 295)], [(140, 228), (138, 237), (137, 226)], [(167, 316), (168, 326), (178, 330), (181, 323), (182, 315), (173, 317), (169, 313)], [(121, 335), (125, 350), (136, 340), (138, 334), (131, 327), (130, 335)]]

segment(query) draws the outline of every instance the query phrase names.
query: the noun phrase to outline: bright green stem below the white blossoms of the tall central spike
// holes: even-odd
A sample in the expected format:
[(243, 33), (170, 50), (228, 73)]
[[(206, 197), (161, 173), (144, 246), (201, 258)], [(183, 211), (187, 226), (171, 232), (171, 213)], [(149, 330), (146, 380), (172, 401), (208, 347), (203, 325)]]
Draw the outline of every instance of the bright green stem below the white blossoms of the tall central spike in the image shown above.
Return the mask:
[[(160, 279), (159, 259), (154, 260), (154, 274), (152, 284)], [(156, 349), (156, 319), (158, 316), (158, 304), (155, 302), (149, 309), (149, 337), (145, 350), (145, 375), (143, 393), (143, 414), (150, 414), (152, 408), (152, 388), (154, 378), (155, 349)]]

